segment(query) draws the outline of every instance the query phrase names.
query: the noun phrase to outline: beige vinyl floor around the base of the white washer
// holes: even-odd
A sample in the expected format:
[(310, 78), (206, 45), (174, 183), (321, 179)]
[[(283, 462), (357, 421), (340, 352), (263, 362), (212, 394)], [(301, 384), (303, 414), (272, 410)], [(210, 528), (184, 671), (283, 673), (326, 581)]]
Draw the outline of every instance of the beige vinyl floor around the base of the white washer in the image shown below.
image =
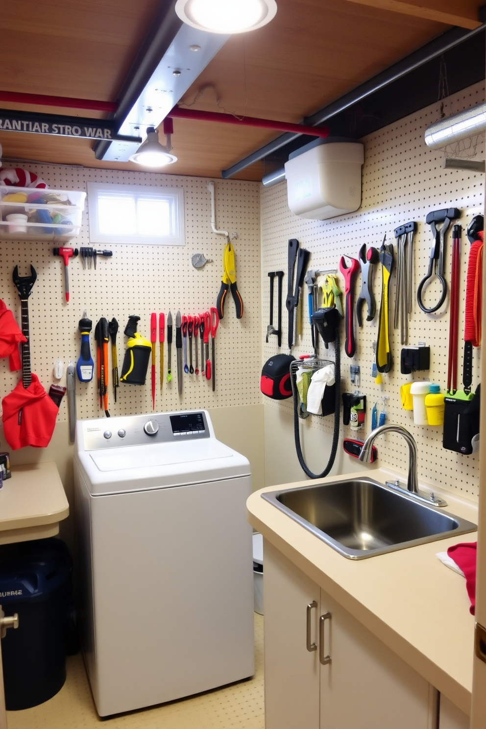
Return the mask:
[(79, 654), (68, 657), (66, 683), (50, 701), (7, 712), (8, 729), (264, 729), (263, 616), (254, 616), (255, 675), (248, 681), (101, 720)]

